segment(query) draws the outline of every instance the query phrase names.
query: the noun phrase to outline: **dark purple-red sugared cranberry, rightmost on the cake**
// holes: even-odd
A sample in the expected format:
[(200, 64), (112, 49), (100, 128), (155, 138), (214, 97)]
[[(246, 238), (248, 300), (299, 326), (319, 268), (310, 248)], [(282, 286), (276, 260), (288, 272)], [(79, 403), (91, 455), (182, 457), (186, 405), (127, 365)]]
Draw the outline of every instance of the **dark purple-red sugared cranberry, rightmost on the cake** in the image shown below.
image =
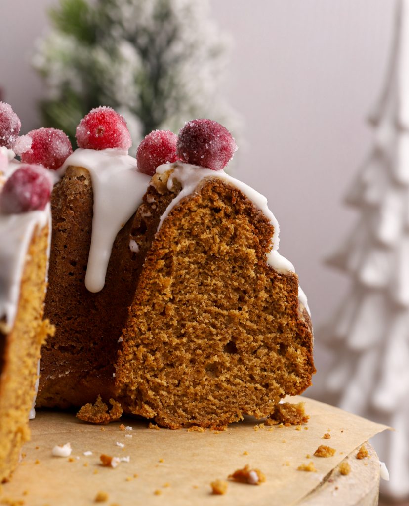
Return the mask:
[(212, 119), (192, 119), (179, 132), (177, 156), (188, 163), (220, 171), (237, 149), (232, 134)]

